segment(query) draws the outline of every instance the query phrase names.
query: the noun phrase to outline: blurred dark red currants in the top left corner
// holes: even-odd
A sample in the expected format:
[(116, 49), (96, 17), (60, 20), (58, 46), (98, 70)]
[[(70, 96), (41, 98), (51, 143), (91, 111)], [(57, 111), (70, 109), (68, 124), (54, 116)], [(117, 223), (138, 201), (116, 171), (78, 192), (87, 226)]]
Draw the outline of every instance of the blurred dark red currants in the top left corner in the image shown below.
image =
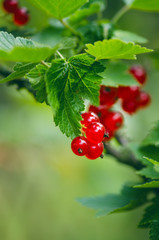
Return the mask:
[(26, 25), (29, 21), (28, 9), (20, 8), (17, 0), (4, 0), (3, 8), (7, 13), (13, 14), (13, 22), (18, 26)]

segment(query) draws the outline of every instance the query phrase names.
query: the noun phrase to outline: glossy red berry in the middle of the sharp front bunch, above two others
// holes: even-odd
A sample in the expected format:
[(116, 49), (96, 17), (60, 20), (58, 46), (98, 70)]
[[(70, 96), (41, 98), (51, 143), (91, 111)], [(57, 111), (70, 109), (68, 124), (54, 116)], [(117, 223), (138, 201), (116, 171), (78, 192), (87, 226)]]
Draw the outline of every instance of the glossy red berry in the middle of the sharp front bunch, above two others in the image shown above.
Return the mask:
[(105, 134), (105, 127), (101, 123), (91, 123), (86, 130), (86, 137), (91, 143), (102, 142)]

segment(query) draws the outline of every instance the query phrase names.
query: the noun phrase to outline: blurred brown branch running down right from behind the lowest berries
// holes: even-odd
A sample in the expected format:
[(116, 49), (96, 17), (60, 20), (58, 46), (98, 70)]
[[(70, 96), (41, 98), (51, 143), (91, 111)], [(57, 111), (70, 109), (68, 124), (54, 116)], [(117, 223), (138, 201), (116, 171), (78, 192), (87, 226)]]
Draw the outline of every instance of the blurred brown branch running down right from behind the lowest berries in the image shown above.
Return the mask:
[(134, 154), (129, 149), (123, 149), (123, 151), (118, 151), (114, 149), (109, 143), (104, 144), (106, 153), (115, 157), (115, 159), (123, 164), (129, 165), (136, 170), (143, 168), (142, 163), (134, 156)]

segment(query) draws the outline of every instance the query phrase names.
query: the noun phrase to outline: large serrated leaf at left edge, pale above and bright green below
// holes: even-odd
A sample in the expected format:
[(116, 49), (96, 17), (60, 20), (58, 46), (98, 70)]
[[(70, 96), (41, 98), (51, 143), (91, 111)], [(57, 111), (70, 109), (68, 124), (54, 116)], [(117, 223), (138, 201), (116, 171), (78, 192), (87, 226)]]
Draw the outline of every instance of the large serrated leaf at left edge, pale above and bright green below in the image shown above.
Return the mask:
[(38, 62), (57, 50), (32, 40), (0, 32), (0, 60), (15, 62)]

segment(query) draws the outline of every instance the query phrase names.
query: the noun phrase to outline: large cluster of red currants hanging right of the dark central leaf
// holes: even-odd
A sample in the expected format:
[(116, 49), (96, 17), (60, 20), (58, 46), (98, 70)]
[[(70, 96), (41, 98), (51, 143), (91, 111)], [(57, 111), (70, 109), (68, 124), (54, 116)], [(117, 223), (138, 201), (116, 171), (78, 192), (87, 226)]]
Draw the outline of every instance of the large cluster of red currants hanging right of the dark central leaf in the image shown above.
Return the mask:
[[(141, 85), (146, 82), (147, 74), (143, 67), (133, 66), (129, 72)], [(122, 100), (122, 108), (129, 114), (146, 107), (151, 101), (149, 94), (138, 86), (115, 88), (102, 85), (99, 99), (99, 106), (90, 105), (89, 112), (82, 114), (83, 136), (74, 138), (71, 144), (76, 155), (85, 155), (89, 159), (100, 157), (104, 150), (102, 141), (109, 141), (123, 125), (123, 115), (111, 110), (118, 99)]]

